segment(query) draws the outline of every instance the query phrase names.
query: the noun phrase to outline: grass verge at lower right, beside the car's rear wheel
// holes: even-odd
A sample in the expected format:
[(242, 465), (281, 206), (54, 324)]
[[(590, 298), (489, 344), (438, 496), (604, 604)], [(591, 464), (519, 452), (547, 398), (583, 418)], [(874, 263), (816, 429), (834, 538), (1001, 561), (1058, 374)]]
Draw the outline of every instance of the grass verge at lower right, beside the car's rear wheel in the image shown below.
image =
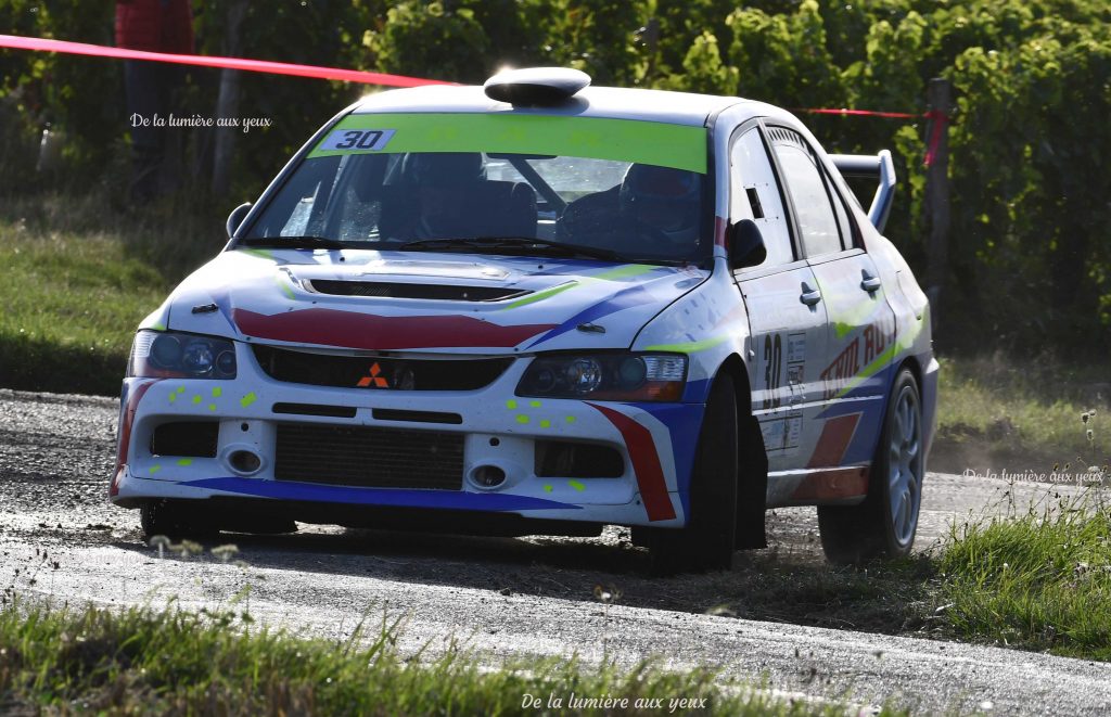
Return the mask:
[(698, 589), (713, 615), (1111, 662), (1111, 494), (953, 525), (942, 545), (890, 562), (743, 555)]

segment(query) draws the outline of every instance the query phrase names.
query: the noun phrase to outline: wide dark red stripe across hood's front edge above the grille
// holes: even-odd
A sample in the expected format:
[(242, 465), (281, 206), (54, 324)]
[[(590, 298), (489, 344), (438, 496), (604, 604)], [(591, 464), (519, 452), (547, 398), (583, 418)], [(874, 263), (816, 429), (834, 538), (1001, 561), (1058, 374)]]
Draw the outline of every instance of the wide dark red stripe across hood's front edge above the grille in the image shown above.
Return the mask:
[(379, 316), (334, 309), (266, 315), (237, 309), (232, 316), (249, 336), (346, 349), (509, 347), (556, 324), (502, 326), (472, 316)]

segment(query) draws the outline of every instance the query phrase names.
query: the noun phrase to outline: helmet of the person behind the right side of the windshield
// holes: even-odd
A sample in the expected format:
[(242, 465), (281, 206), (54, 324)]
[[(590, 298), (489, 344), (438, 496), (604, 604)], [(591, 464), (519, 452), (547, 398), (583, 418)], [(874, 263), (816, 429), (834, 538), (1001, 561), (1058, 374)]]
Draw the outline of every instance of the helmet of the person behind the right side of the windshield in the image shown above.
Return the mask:
[(621, 181), (621, 212), (657, 229), (672, 242), (698, 241), (699, 175), (654, 164), (631, 164)]

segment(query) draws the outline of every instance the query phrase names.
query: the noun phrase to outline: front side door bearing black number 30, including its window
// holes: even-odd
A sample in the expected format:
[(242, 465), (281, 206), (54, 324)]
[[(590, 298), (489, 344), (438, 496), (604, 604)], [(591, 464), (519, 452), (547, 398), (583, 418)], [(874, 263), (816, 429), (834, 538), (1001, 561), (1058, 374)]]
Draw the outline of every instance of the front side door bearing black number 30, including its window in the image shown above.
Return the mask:
[(769, 498), (777, 475), (810, 454), (808, 424), (821, 410), (825, 305), (813, 270), (802, 259), (785, 196), (758, 122), (741, 125), (730, 147), (730, 222), (751, 219), (768, 249), (758, 266), (734, 272), (749, 316), (752, 413), (768, 451)]

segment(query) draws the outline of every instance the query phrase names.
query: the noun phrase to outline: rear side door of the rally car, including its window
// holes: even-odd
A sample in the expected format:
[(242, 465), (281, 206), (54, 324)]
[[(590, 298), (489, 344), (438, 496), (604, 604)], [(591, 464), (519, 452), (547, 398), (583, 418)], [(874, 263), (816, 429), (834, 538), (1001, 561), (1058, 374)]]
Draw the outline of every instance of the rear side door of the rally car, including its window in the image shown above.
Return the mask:
[(794, 130), (769, 127), (768, 132), (829, 319), (818, 374), (821, 433), (807, 467), (867, 465), (882, 420), (894, 314), (852, 213), (817, 152)]

